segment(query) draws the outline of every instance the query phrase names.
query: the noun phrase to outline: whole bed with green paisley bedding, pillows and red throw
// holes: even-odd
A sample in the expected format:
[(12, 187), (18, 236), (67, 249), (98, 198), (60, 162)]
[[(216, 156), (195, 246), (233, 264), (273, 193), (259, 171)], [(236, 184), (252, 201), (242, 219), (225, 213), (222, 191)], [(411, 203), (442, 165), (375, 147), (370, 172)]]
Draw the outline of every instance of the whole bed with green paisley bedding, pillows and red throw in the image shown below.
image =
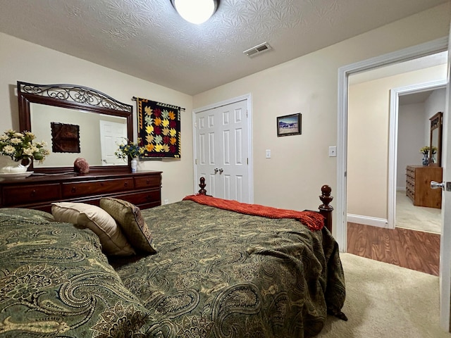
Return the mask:
[(197, 196), (1, 208), (0, 337), (314, 337), (328, 314), (346, 319), (338, 244), (302, 224), (319, 213), (301, 223)]

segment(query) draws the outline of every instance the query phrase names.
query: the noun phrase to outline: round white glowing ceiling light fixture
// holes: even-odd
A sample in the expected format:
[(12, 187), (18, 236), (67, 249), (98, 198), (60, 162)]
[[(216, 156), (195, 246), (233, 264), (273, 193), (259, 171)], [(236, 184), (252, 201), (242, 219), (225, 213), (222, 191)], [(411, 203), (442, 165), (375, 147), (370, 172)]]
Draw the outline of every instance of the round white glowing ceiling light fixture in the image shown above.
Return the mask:
[(211, 18), (218, 8), (218, 0), (171, 0), (182, 18), (197, 25)]

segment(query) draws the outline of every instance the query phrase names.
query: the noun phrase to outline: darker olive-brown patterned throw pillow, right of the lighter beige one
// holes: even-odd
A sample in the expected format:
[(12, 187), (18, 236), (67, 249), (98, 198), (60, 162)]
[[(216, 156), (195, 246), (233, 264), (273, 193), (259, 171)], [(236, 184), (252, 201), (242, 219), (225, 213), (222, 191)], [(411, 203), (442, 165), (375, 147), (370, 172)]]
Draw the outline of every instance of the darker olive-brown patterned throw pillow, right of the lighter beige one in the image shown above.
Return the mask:
[(121, 227), (128, 242), (135, 249), (149, 253), (156, 253), (152, 244), (152, 234), (142, 218), (141, 210), (134, 204), (122, 199), (102, 197), (100, 207), (109, 213)]

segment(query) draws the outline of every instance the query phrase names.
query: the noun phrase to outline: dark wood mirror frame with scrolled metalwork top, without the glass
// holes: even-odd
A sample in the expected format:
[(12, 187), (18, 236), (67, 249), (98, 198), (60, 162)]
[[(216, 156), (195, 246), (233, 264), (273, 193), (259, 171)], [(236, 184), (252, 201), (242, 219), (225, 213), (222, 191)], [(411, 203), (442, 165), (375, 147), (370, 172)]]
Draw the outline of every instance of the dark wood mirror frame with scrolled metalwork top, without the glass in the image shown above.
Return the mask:
[[(30, 104), (35, 103), (123, 117), (127, 121), (127, 137), (133, 139), (132, 106), (95, 89), (74, 84), (32, 84), (18, 81), (17, 91), (20, 131), (33, 132)], [(74, 156), (74, 161), (76, 157)], [(30, 165), (31, 168), (32, 165)], [(73, 166), (32, 168), (32, 170), (35, 173), (67, 173), (73, 172)], [(130, 160), (128, 165), (89, 166), (90, 173), (121, 173), (124, 171), (130, 171)]]

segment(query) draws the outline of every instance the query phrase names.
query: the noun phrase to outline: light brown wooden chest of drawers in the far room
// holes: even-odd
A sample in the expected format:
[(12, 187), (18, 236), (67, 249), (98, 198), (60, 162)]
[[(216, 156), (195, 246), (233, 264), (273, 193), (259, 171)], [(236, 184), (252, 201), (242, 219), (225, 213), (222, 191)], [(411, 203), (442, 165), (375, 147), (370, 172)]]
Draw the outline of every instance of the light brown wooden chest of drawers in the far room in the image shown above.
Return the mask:
[(442, 182), (443, 168), (423, 165), (407, 165), (406, 195), (414, 206), (441, 208), (441, 189), (431, 189), (431, 181)]

